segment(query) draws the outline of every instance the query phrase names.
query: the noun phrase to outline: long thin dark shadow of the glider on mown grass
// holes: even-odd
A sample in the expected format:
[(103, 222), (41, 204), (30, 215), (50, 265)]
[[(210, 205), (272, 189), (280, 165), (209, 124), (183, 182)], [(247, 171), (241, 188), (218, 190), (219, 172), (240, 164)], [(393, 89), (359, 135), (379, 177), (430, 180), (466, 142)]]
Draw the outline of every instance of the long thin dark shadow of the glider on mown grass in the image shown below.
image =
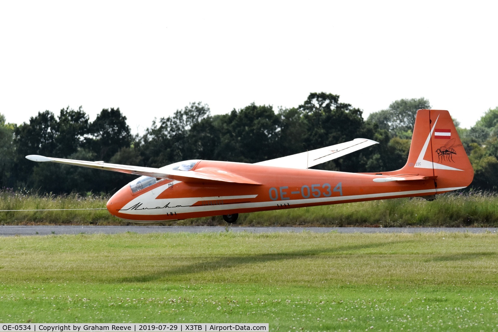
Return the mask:
[[(309, 259), (314, 256), (323, 257), (324, 255), (340, 255), (346, 254), (350, 251), (365, 250), (379, 248), (383, 246), (398, 244), (398, 243), (410, 243), (415, 240), (406, 241), (392, 241), (392, 242), (378, 242), (369, 243), (364, 245), (344, 245), (337, 248), (322, 248), (322, 249), (309, 249), (309, 250), (294, 250), (279, 253), (267, 253), (267, 254), (255, 254), (255, 255), (244, 255), (244, 256), (227, 256), (216, 258), (211, 260), (206, 260), (203, 262), (187, 264), (180, 267), (174, 267), (172, 269), (165, 269), (164, 271), (139, 275), (139, 276), (126, 276), (117, 280), (117, 282), (150, 282), (161, 278), (167, 277), (178, 277), (180, 275), (188, 275), (191, 273), (215, 271), (223, 268), (230, 268), (235, 266), (240, 266), (244, 264), (259, 264), (272, 261), (282, 261), (287, 259)], [(358, 252), (358, 254), (362, 254)], [(256, 267), (257, 268), (257, 267)], [(116, 282), (116, 281), (113, 281)]]

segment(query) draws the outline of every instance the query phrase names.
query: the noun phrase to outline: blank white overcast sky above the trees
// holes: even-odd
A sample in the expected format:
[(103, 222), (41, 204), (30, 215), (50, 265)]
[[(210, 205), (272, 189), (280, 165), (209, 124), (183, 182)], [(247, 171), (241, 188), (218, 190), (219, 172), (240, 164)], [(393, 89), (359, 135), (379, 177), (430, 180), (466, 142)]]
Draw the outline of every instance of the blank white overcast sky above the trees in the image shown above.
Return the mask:
[(201, 101), (212, 114), (370, 112), (425, 97), (470, 127), (498, 106), (497, 1), (2, 1), (0, 113), (117, 108), (134, 132)]

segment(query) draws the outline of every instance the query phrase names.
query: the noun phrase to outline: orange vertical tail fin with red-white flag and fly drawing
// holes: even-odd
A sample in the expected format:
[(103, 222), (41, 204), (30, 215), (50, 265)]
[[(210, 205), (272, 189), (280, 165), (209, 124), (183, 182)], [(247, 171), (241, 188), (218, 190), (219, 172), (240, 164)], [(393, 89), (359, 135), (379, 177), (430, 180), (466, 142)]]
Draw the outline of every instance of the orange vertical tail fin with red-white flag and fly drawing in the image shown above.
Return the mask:
[(434, 176), (438, 193), (471, 184), (474, 170), (448, 111), (417, 111), (408, 161), (399, 172)]

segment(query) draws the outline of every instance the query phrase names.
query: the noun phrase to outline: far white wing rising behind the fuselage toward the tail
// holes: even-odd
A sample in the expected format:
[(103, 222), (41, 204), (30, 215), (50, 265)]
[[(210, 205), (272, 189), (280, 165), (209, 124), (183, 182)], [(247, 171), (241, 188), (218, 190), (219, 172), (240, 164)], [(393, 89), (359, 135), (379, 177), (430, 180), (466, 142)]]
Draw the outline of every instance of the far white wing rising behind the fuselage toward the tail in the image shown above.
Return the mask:
[(348, 153), (358, 151), (373, 144), (378, 144), (378, 142), (366, 138), (355, 138), (349, 142), (322, 147), (320, 149), (301, 152), (286, 157), (261, 161), (256, 163), (256, 165), (300, 169), (309, 168), (311, 166), (342, 157)]

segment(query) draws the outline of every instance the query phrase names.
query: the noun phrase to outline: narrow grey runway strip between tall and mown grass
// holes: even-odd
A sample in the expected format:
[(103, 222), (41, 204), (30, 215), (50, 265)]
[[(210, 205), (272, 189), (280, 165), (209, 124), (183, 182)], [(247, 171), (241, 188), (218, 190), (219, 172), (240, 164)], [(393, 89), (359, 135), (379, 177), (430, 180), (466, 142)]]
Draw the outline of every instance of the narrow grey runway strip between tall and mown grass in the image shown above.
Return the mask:
[[(311, 231), (326, 233), (337, 231), (338, 233), (435, 233), (435, 232), (470, 232), (484, 233), (491, 231), (496, 233), (498, 228), (456, 228), (456, 227), (229, 227), (234, 232), (247, 231), (250, 233), (271, 232), (302, 232)], [(202, 233), (202, 232), (224, 232), (223, 226), (0, 226), (0, 236), (14, 235), (51, 235), (51, 234), (79, 234), (79, 233), (104, 233), (116, 234), (124, 232), (136, 233)]]

